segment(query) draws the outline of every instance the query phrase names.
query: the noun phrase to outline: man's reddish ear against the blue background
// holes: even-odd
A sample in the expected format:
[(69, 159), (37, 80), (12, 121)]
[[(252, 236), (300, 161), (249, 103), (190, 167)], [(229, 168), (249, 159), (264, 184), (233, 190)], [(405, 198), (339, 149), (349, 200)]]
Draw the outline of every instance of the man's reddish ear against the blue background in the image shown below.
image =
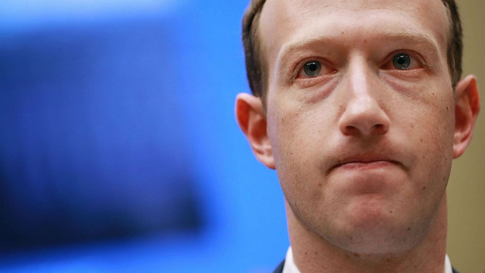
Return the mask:
[(266, 130), (266, 114), (259, 97), (240, 93), (236, 97), (236, 119), (256, 158), (275, 169), (273, 150)]

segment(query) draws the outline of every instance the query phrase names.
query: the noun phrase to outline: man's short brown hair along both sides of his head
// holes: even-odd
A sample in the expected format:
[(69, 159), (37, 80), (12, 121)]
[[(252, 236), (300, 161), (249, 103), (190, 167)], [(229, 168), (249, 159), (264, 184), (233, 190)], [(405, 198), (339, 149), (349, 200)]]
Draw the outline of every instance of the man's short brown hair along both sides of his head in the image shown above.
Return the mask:
[[(463, 30), (455, 0), (442, 1), (450, 22), (447, 56), (451, 84), (454, 90), (462, 77)], [(261, 41), (258, 37), (258, 21), (264, 4), (265, 0), (250, 0), (243, 17), (243, 45), (247, 80), (253, 95), (261, 97), (263, 104), (265, 104), (266, 96), (266, 76), (265, 62), (261, 55)]]

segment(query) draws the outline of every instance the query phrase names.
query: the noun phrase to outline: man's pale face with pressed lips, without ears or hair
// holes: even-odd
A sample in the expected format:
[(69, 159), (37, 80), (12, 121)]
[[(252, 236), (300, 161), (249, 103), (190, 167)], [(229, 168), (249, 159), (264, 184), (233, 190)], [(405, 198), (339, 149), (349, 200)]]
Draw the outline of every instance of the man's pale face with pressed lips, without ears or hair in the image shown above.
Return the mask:
[(268, 0), (267, 133), (287, 203), (338, 247), (415, 246), (443, 198), (454, 97), (441, 0)]

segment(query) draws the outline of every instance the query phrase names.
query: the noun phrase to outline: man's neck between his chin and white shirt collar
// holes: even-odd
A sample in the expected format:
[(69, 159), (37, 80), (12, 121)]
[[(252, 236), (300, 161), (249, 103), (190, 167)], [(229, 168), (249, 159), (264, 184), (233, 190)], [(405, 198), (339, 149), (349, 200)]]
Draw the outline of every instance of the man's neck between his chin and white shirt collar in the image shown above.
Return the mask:
[(341, 249), (310, 230), (287, 206), (288, 233), (296, 266), (309, 272), (444, 272), (446, 254), (446, 194), (430, 228), (410, 250), (389, 254), (364, 254)]

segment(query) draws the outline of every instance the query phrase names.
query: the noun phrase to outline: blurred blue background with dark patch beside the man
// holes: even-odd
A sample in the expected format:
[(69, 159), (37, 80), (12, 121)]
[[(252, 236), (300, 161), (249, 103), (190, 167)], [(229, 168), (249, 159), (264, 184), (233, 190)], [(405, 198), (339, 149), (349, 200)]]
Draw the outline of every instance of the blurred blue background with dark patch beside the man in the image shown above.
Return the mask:
[(234, 118), (246, 0), (0, 2), (0, 272), (272, 272)]

